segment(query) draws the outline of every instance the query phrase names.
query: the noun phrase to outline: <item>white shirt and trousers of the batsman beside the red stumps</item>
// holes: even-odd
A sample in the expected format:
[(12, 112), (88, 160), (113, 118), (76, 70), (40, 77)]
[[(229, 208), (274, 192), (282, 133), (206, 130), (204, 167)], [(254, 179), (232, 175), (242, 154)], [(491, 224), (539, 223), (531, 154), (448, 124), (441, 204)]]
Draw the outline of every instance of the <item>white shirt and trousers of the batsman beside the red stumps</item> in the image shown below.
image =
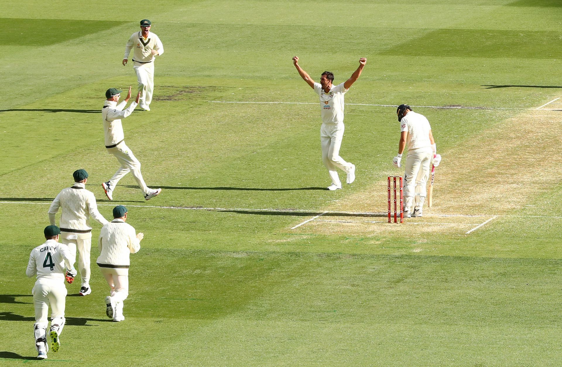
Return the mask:
[[(412, 206), (421, 209), (427, 193), (433, 149), (429, 140), (431, 126), (425, 116), (409, 111), (402, 117), (400, 131), (408, 132), (406, 144), (408, 156), (404, 173), (404, 210), (411, 211)], [(415, 200), (414, 200), (415, 198)]]

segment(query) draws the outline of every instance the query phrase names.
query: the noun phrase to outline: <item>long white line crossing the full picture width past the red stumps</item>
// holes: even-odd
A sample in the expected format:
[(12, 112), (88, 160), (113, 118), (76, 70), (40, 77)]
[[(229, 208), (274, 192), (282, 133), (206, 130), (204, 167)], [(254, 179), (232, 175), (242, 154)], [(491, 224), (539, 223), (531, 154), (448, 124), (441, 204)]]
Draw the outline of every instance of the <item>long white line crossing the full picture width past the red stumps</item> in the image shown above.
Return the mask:
[[(0, 201), (0, 204), (31, 204), (31, 205), (51, 205), (51, 202), (25, 202), (25, 201)], [(116, 206), (119, 205), (119, 200), (115, 200), (114, 204), (100, 204), (98, 206)], [(156, 206), (156, 205), (125, 205), (128, 207), (136, 208), (150, 208), (150, 209), (178, 209), (178, 210), (209, 210), (209, 211), (269, 211), (273, 213), (307, 213), (307, 212), (319, 212), (318, 209), (256, 209), (256, 208), (212, 208), (212, 207), (198, 207), (198, 206)], [(349, 215), (372, 215), (372, 216), (384, 216), (386, 217), (387, 212), (357, 212), (357, 211), (336, 211), (336, 210), (325, 210), (322, 215), (328, 214), (349, 214)], [(551, 219), (562, 219), (562, 216), (548, 216), (548, 215), (513, 215), (513, 214), (424, 214), (424, 216), (436, 216), (436, 217), (463, 217), (463, 218), (481, 218), (494, 215), (501, 218), (551, 218)]]

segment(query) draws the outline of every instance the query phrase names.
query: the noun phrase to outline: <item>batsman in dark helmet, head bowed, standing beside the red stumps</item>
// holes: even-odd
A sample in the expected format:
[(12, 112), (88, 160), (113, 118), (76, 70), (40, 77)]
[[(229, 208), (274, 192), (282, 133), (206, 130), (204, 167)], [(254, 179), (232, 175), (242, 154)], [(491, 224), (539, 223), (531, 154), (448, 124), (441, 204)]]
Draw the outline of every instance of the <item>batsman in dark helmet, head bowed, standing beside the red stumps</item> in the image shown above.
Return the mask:
[(393, 163), (398, 168), (406, 145), (408, 149), (404, 173), (404, 218), (422, 216), (430, 165), (433, 160), (433, 165), (437, 167), (441, 156), (437, 154), (431, 126), (425, 116), (414, 112), (408, 105), (398, 106), (396, 114), (400, 122), (400, 142)]

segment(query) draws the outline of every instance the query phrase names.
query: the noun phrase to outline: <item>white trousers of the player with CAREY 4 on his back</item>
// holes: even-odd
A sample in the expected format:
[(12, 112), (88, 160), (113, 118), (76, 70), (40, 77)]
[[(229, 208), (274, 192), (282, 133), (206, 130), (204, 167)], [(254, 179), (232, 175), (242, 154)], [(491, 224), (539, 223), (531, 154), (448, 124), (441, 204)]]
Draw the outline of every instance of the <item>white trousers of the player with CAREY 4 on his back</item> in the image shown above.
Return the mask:
[[(35, 339), (38, 329), (47, 329), (47, 316), (51, 305), (51, 325), (60, 325), (60, 330), (65, 323), (65, 297), (66, 287), (64, 278), (49, 279), (39, 278), (33, 287), (33, 305), (35, 306)], [(42, 334), (42, 332), (39, 332)]]

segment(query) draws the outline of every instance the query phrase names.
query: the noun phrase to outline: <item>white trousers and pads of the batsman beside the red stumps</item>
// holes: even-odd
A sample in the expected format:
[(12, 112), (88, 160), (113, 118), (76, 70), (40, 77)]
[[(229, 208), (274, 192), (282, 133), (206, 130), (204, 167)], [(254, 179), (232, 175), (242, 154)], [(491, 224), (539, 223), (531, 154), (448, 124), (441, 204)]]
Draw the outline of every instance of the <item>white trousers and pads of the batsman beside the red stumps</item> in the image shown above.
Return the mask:
[(417, 208), (423, 207), (432, 158), (431, 147), (408, 151), (404, 172), (404, 210), (411, 211), (413, 205)]

